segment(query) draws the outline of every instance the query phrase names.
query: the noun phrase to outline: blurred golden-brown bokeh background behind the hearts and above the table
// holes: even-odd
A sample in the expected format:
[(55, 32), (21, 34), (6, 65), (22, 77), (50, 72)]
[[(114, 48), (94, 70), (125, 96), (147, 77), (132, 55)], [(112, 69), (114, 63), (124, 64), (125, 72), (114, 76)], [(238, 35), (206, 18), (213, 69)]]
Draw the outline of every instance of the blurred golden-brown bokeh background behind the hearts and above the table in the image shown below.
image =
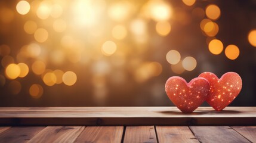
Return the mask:
[(169, 106), (203, 71), (256, 106), (256, 1), (1, 0), (0, 61), (0, 106)]

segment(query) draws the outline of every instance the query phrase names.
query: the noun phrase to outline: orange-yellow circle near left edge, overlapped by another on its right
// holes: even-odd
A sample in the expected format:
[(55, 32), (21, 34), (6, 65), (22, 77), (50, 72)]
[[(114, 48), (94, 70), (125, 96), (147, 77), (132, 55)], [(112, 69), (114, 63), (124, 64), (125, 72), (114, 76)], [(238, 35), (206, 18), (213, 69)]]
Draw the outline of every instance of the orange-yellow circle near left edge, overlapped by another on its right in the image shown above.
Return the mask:
[(5, 75), (9, 79), (16, 79), (20, 76), (20, 67), (17, 64), (9, 64), (5, 69)]

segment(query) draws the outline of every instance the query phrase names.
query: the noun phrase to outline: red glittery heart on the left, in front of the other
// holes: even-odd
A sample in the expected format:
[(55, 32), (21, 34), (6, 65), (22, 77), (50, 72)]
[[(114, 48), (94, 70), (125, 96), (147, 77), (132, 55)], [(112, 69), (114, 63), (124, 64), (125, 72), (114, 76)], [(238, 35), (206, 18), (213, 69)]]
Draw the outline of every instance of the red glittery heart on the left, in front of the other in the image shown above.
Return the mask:
[(182, 77), (172, 76), (165, 83), (169, 99), (184, 113), (196, 110), (208, 96), (209, 88), (208, 81), (202, 77), (187, 83)]

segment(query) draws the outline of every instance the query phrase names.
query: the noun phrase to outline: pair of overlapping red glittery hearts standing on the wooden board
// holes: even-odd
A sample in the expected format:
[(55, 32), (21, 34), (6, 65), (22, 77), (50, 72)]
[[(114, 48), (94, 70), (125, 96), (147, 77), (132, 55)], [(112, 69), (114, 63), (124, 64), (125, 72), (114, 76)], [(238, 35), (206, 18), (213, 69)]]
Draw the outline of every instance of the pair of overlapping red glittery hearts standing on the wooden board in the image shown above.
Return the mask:
[(165, 83), (169, 99), (184, 113), (192, 113), (208, 102), (216, 111), (221, 111), (238, 96), (242, 89), (242, 79), (238, 73), (228, 72), (220, 79), (205, 72), (189, 83), (182, 77), (172, 76)]

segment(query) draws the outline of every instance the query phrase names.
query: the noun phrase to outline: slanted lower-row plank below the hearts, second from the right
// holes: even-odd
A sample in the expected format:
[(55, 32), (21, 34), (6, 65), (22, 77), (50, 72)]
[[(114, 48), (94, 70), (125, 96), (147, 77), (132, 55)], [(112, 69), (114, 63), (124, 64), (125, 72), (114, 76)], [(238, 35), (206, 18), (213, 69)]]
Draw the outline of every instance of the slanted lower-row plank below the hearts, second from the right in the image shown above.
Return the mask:
[(190, 126), (200, 142), (249, 142), (229, 126)]

